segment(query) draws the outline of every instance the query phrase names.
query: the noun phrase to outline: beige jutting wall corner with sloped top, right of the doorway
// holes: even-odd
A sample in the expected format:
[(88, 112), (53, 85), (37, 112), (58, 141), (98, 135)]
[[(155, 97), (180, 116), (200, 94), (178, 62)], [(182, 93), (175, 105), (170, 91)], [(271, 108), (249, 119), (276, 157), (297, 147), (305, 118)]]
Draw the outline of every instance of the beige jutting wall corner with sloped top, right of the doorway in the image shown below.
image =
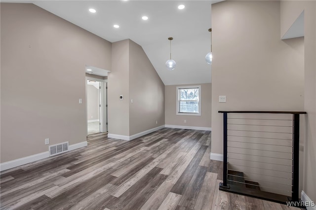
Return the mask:
[(142, 47), (132, 40), (112, 44), (108, 105), (110, 134), (132, 136), (164, 125), (164, 85)]

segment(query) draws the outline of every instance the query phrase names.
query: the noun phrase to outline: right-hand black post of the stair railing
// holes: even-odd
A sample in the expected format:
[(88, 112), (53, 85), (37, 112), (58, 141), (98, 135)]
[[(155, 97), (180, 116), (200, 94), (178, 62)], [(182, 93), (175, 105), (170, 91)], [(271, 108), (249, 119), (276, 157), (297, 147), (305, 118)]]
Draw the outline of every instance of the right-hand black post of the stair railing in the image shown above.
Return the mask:
[(293, 114), (292, 201), (299, 201), (300, 115)]

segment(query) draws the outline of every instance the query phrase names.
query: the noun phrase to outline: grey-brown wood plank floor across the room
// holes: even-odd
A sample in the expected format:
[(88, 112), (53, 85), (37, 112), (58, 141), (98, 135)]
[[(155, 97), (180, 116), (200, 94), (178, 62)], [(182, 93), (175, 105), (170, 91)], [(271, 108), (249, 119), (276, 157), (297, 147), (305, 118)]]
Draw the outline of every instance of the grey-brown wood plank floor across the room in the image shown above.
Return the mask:
[[(219, 191), (211, 132), (164, 128), (136, 140), (90, 135), (88, 146), (1, 172), (1, 210), (287, 210)], [(292, 208), (294, 209), (294, 208)]]

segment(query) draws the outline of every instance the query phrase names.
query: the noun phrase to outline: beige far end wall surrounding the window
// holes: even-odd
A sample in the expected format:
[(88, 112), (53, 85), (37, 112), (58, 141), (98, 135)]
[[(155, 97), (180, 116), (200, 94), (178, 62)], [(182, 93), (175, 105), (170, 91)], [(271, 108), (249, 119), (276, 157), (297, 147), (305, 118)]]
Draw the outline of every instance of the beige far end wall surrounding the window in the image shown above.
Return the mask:
[[(201, 85), (201, 116), (177, 115), (177, 87)], [(211, 127), (212, 84), (187, 84), (165, 86), (165, 124), (178, 126)], [(187, 122), (185, 123), (184, 120)]]

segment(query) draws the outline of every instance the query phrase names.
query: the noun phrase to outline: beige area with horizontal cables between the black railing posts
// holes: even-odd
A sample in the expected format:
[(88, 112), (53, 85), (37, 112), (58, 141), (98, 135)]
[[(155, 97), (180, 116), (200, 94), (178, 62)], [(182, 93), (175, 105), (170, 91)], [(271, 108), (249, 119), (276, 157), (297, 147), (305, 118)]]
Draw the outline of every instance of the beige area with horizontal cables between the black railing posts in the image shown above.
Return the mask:
[(291, 196), (292, 114), (229, 113), (228, 169), (262, 191)]

